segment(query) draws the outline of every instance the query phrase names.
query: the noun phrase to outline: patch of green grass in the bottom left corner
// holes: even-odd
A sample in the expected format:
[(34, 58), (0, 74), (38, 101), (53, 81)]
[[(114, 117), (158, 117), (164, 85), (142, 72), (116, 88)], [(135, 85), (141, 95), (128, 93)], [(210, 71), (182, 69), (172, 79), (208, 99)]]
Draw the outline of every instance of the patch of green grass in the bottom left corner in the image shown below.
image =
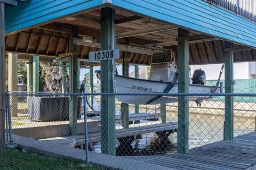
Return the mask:
[(83, 169), (83, 170), (98, 170), (93, 166), (82, 167), (84, 162), (79, 160), (59, 159), (46, 157), (37, 154), (28, 154), (15, 149), (5, 149), (0, 151), (0, 169)]

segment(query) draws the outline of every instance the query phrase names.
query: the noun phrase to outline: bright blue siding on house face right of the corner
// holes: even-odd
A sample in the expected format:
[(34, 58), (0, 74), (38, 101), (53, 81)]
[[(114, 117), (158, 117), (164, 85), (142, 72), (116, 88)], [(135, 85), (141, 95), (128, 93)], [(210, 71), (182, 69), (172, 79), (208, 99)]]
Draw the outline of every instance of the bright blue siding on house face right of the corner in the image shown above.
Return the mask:
[(256, 24), (202, 0), (112, 0), (113, 5), (256, 47)]

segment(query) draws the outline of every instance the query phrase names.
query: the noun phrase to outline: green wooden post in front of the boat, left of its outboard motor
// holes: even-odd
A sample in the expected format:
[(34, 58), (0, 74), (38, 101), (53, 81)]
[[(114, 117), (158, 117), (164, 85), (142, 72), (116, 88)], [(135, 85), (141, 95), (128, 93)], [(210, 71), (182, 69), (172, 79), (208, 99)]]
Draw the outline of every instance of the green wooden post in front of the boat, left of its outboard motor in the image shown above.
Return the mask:
[[(189, 36), (189, 31), (179, 28), (178, 37)], [(188, 92), (189, 73), (188, 40), (178, 41), (178, 92)], [(188, 153), (188, 96), (178, 97), (178, 153)]]

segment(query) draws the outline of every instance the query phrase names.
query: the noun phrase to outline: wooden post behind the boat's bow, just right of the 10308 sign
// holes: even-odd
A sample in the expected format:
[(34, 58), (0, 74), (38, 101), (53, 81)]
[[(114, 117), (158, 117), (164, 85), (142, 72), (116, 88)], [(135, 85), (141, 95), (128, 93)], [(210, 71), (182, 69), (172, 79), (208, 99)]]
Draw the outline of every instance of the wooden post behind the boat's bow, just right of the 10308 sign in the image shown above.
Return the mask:
[[(128, 41), (126, 39), (126, 44)], [(123, 52), (123, 75), (129, 77), (129, 63), (130, 63), (130, 53)], [(121, 116), (122, 116), (122, 123), (124, 128), (129, 128), (129, 104), (122, 103), (121, 104)]]

